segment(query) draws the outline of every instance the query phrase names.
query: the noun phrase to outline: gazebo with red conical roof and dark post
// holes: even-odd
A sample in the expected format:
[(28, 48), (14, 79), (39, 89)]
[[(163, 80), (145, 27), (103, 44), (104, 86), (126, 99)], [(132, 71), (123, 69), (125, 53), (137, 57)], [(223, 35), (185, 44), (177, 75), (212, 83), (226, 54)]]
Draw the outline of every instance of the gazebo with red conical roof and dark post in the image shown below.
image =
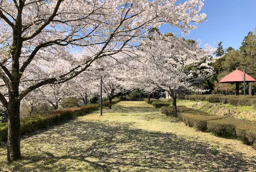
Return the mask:
[[(220, 80), (219, 83), (236, 83), (236, 95), (239, 95), (239, 83), (244, 82), (244, 72), (241, 70), (234, 70), (222, 80)], [(252, 78), (250, 75), (245, 74), (245, 82), (256, 82), (254, 78)]]

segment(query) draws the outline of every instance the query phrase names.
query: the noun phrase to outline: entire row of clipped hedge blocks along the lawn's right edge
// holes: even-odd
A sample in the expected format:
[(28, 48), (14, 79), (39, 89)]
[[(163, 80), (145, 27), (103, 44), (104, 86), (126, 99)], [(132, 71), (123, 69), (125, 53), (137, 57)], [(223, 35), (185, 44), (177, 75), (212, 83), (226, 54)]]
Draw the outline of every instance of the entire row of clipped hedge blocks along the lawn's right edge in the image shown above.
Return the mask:
[[(161, 107), (162, 114), (173, 115), (172, 106)], [(189, 127), (216, 136), (238, 138), (244, 144), (256, 147), (256, 122), (225, 116), (210, 115), (200, 110), (177, 106), (178, 117)]]

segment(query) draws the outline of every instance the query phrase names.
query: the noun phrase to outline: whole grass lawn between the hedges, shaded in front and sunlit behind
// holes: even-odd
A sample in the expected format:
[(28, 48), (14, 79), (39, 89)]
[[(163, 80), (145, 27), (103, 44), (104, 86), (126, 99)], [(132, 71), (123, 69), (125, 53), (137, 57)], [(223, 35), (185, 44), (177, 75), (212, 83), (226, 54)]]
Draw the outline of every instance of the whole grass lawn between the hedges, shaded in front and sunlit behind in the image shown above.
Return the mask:
[(0, 171), (255, 171), (256, 150), (197, 132), (146, 102), (125, 101), (23, 138), (22, 160)]

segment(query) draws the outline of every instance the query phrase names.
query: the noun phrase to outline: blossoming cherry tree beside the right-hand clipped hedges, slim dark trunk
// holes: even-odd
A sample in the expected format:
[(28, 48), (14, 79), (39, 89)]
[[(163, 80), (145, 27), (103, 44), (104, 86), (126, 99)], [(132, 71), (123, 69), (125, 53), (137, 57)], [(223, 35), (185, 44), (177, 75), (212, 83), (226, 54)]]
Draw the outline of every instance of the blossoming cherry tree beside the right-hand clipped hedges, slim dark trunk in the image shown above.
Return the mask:
[(206, 80), (212, 73), (211, 54), (214, 49), (205, 45), (190, 44), (176, 36), (155, 34), (153, 39), (142, 41), (137, 68), (142, 82), (154, 84), (172, 97), (174, 116), (177, 116), (177, 90), (194, 90), (194, 84)]

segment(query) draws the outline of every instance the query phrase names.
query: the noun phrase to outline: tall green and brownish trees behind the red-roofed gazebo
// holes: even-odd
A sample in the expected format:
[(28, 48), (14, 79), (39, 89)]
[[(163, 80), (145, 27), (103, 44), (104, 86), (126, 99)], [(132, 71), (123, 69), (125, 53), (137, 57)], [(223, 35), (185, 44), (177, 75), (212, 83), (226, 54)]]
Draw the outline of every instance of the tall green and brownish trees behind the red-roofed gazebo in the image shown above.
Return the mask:
[[(218, 44), (218, 48), (216, 52), (214, 52), (217, 59), (212, 64), (214, 67), (214, 75), (212, 77), (212, 83), (218, 82), (224, 76), (229, 74), (230, 72), (236, 70), (236, 68), (242, 70), (241, 63), (247, 63), (246, 73), (256, 78), (256, 33), (255, 31), (248, 32), (248, 34), (244, 37), (242, 42), (242, 46), (239, 50), (235, 50), (232, 47), (228, 47), (226, 51), (222, 47), (222, 42)], [(221, 58), (219, 58), (222, 56)], [(232, 84), (224, 84), (220, 86), (215, 84), (214, 86), (216, 90), (224, 90), (228, 91), (232, 88)], [(255, 84), (252, 83), (252, 89), (255, 89)]]

